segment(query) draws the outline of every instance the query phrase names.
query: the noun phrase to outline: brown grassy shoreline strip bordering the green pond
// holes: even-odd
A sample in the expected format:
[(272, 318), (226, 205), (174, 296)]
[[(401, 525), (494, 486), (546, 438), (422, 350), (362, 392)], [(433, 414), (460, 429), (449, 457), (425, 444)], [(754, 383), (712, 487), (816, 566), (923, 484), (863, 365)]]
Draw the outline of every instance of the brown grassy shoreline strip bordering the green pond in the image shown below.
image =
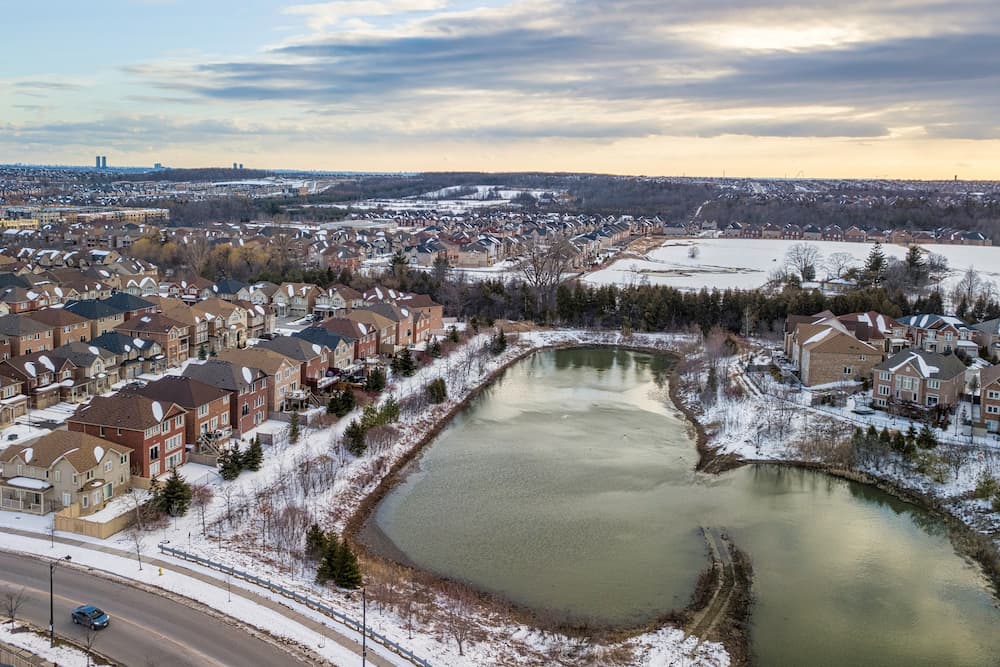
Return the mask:
[[(440, 583), (458, 583), (474, 592), (475, 595), (483, 602), (487, 604), (492, 603), (491, 606), (495, 604), (505, 608), (510, 615), (511, 620), (519, 623), (527, 623), (540, 629), (554, 630), (569, 636), (578, 636), (581, 632), (584, 632), (587, 636), (594, 637), (595, 639), (600, 639), (602, 641), (624, 641), (635, 638), (643, 633), (656, 631), (663, 627), (677, 627), (683, 629), (683, 625), (677, 623), (678, 614), (688, 612), (691, 604), (680, 610), (669, 610), (638, 626), (595, 627), (589, 624), (579, 623), (545, 623), (543, 622), (542, 616), (545, 613), (544, 610), (532, 610), (521, 607), (519, 605), (512, 604), (502, 595), (476, 589), (468, 586), (464, 582), (455, 582), (454, 580), (446, 577), (438, 576), (433, 572), (423, 570), (414, 566), (409, 559), (405, 558), (405, 554), (403, 554), (404, 558), (401, 561), (389, 556), (373, 553), (370, 548), (373, 545), (365, 539), (365, 537), (375, 538), (375, 542), (388, 539), (384, 535), (381, 535), (381, 531), (378, 531), (377, 528), (370, 529), (368, 527), (368, 524), (372, 521), (375, 508), (399, 482), (405, 479), (408, 466), (419, 457), (424, 448), (432, 443), (435, 438), (450, 425), (454, 417), (461, 410), (466, 409), (470, 403), (478, 398), (485, 389), (492, 386), (493, 383), (495, 383), (509, 367), (537, 352), (586, 347), (613, 347), (634, 352), (641, 352), (644, 354), (667, 355), (673, 357), (674, 360), (680, 358), (680, 353), (676, 349), (657, 348), (651, 345), (643, 345), (634, 340), (618, 340), (616, 342), (609, 342), (606, 339), (601, 340), (597, 338), (591, 341), (558, 341), (536, 346), (528, 346), (523, 350), (519, 350), (516, 355), (504, 360), (500, 367), (492, 371), (480, 384), (470, 390), (466, 396), (451, 406), (447, 412), (441, 415), (440, 418), (435, 421), (434, 425), (429, 428), (402, 457), (400, 457), (400, 459), (392, 466), (389, 473), (382, 478), (378, 486), (370, 494), (365, 496), (355, 511), (348, 518), (344, 527), (344, 535), (350, 539), (350, 541), (358, 548), (359, 552), (364, 555), (365, 558), (375, 561), (389, 562), (398, 567), (403, 567), (417, 572), (422, 577), (430, 577), (434, 581)], [(723, 452), (720, 448), (713, 447), (711, 445), (711, 436), (706, 431), (705, 424), (699, 420), (697, 411), (683, 400), (681, 390), (682, 386), (679, 369), (675, 364), (670, 370), (668, 394), (673, 406), (684, 415), (691, 431), (693, 432), (695, 448), (698, 452), (698, 461), (695, 465), (696, 471), (719, 475), (746, 465), (766, 464), (822, 472), (830, 475), (831, 477), (874, 487), (902, 502), (919, 507), (920, 509), (941, 519), (948, 527), (949, 539), (953, 548), (958, 554), (971, 559), (979, 566), (980, 571), (983, 573), (989, 584), (988, 587), (991, 589), (993, 597), (1000, 602), (1000, 551), (998, 551), (996, 544), (988, 535), (979, 533), (973, 527), (966, 524), (961, 518), (952, 513), (940, 499), (929, 494), (925, 494), (919, 490), (902, 486), (889, 479), (859, 471), (838, 468), (834, 465), (822, 462), (789, 459), (744, 459), (737, 454)], [(369, 532), (370, 530), (372, 532)], [(368, 534), (365, 535), (366, 533)], [(380, 535), (381, 539), (379, 538)], [(383, 546), (385, 545), (383, 544)], [(392, 548), (387, 551), (397, 552), (398, 549)], [(746, 585), (748, 589), (752, 585), (752, 575), (750, 575)], [(750, 656), (752, 656), (752, 652), (750, 650), (752, 647), (749, 643), (749, 633), (741, 632), (736, 634), (739, 636), (721, 638), (720, 641), (727, 646), (727, 651), (729, 652), (734, 665), (748, 664), (746, 661), (750, 658)], [(732, 646), (731, 642), (735, 643), (736, 646)]]

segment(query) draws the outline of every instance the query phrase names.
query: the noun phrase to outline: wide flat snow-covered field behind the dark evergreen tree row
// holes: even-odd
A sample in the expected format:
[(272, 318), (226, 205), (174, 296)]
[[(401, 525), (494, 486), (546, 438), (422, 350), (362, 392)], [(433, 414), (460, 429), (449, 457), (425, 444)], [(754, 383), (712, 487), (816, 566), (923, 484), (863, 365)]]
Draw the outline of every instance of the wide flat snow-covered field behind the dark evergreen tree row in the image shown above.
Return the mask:
[[(833, 253), (852, 255), (861, 266), (871, 251), (870, 243), (833, 241), (792, 241), (784, 239), (677, 239), (647, 253), (643, 259), (620, 259), (608, 268), (584, 278), (595, 285), (670, 285), (680, 289), (702, 287), (754, 289), (767, 282), (768, 275), (784, 265), (785, 253), (796, 243), (815, 245), (820, 258), (817, 275), (825, 276), (823, 261)], [(697, 256), (690, 257), (694, 246)], [(943, 255), (952, 272), (945, 281), (950, 287), (970, 266), (984, 280), (1000, 284), (1000, 247), (921, 245), (928, 252)], [(903, 259), (907, 248), (882, 246), (886, 256)]]

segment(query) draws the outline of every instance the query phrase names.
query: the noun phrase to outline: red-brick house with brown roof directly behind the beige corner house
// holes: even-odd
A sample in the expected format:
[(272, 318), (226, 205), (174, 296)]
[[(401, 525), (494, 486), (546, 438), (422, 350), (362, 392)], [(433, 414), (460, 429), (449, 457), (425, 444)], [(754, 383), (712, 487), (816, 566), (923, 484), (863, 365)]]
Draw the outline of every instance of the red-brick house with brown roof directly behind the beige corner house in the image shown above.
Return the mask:
[(184, 450), (186, 411), (176, 403), (145, 396), (95, 396), (77, 408), (66, 425), (132, 450), (132, 474), (149, 479), (187, 460)]

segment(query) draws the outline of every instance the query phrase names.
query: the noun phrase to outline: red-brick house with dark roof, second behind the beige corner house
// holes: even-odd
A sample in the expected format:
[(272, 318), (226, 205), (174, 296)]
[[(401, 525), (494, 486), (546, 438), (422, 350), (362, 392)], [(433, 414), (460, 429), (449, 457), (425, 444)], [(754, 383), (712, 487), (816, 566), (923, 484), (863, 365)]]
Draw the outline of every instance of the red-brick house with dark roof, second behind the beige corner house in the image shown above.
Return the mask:
[(192, 377), (167, 375), (144, 387), (129, 389), (163, 404), (176, 403), (185, 410), (184, 441), (197, 451), (225, 445), (232, 436), (230, 393)]

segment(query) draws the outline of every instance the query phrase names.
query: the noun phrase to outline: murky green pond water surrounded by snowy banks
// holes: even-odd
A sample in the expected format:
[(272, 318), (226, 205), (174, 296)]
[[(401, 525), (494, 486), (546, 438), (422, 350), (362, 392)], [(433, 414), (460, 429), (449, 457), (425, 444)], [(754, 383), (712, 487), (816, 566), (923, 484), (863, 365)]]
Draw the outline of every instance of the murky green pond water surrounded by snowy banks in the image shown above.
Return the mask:
[(367, 534), (561, 620), (635, 626), (687, 604), (708, 563), (700, 527), (720, 527), (754, 564), (757, 664), (997, 664), (1000, 610), (942, 523), (821, 473), (694, 472), (670, 363), (609, 348), (517, 363), (422, 453)]

